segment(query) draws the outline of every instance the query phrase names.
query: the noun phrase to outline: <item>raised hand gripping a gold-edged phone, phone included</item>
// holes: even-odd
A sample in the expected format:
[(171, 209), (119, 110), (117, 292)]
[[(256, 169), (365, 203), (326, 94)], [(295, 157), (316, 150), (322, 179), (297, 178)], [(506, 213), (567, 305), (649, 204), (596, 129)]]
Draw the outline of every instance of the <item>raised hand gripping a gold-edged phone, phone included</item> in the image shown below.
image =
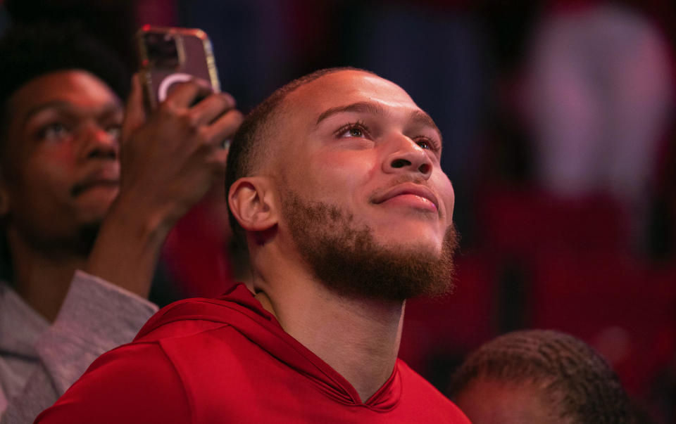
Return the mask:
[[(158, 39), (158, 34), (172, 37)], [(144, 27), (139, 39), (145, 40), (146, 50), (125, 113), (119, 200), (136, 203), (137, 213), (170, 227), (213, 184), (223, 184), (227, 158), (223, 140), (232, 138), (243, 117), (234, 109), (234, 98), (218, 92), (215, 66), (209, 65), (213, 56), (204, 44), (206, 34)], [(199, 41), (201, 47), (189, 48), (197, 44), (188, 40)], [(175, 76), (187, 72), (187, 82)]]

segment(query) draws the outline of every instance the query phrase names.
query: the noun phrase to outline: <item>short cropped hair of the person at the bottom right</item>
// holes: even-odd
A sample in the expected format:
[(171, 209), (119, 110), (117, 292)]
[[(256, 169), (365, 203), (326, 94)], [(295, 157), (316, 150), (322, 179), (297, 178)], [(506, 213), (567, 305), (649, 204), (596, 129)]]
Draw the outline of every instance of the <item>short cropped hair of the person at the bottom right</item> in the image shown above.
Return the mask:
[(613, 368), (585, 342), (558, 331), (515, 331), (487, 342), (453, 375), (449, 394), (480, 379), (544, 387), (553, 413), (575, 423), (633, 422)]

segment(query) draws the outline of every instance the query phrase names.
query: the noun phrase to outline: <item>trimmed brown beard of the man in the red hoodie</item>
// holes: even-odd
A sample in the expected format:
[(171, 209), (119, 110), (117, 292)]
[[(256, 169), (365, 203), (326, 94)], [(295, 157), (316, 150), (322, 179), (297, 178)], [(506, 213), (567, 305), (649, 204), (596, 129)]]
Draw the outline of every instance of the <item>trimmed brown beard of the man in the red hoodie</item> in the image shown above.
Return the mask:
[(439, 255), (415, 246), (390, 248), (373, 238), (367, 225), (327, 203), (311, 203), (285, 190), (282, 214), (292, 238), (314, 276), (327, 288), (348, 297), (403, 301), (438, 296), (453, 289), (455, 226), (444, 235)]

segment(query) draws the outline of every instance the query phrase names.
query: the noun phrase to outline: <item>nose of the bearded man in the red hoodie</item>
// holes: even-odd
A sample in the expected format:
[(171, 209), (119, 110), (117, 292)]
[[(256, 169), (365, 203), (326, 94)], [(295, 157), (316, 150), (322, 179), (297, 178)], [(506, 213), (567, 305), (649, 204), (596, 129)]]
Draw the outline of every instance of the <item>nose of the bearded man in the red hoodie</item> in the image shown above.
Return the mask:
[(412, 172), (428, 179), (432, 175), (432, 160), (429, 151), (418, 146), (418, 143), (400, 134), (389, 140), (391, 150), (383, 162), (383, 170), (392, 174)]

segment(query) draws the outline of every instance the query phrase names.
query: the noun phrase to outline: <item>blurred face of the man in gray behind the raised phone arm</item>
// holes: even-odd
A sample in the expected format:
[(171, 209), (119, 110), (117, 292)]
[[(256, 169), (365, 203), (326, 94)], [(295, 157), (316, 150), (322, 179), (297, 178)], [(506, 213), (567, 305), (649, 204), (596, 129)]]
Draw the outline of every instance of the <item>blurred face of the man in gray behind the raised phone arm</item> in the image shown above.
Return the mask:
[(33, 243), (97, 226), (118, 194), (120, 100), (80, 70), (30, 80), (8, 105), (1, 189), (10, 229)]

